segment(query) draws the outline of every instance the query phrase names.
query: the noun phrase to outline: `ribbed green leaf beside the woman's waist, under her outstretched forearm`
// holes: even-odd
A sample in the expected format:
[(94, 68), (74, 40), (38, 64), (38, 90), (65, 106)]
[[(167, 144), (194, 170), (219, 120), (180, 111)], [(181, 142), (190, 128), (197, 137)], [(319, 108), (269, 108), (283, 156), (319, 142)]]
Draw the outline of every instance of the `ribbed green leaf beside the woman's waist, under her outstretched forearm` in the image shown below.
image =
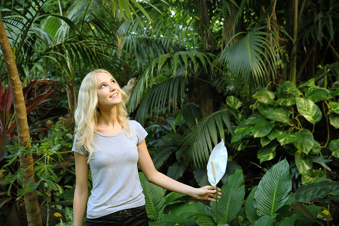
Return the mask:
[(146, 201), (146, 212), (149, 218), (157, 218), (162, 214), (161, 210), (165, 204), (164, 191), (161, 187), (149, 183), (142, 172), (139, 172), (142, 193)]

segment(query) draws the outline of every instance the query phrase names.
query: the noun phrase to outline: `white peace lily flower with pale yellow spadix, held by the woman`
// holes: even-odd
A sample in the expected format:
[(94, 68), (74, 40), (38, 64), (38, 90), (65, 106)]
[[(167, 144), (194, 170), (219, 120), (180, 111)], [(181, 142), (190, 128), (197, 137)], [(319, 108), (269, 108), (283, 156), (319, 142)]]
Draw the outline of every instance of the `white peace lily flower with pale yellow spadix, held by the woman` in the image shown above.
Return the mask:
[(207, 163), (208, 181), (212, 186), (216, 187), (220, 179), (224, 176), (227, 166), (227, 149), (224, 144), (224, 139), (217, 144), (210, 155)]

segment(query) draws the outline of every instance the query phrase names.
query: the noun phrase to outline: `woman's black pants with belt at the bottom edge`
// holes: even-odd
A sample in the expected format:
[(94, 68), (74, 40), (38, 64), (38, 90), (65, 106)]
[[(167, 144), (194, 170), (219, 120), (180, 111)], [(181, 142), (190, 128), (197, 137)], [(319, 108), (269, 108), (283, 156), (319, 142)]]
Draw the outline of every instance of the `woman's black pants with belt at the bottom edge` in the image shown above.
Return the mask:
[(148, 218), (145, 206), (139, 206), (99, 218), (87, 218), (86, 226), (148, 226)]

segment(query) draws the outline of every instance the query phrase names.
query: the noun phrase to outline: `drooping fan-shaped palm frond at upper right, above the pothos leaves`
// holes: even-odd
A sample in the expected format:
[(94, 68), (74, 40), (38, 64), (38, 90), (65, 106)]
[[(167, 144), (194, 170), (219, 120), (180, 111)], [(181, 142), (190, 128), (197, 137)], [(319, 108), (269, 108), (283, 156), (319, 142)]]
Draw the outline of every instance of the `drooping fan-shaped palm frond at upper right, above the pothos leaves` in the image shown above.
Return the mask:
[[(233, 39), (240, 35), (238, 33)], [(272, 38), (272, 43), (268, 41)], [(253, 77), (258, 85), (275, 79), (279, 46), (275, 33), (266, 27), (251, 30), (234, 45), (225, 48), (214, 62), (223, 72), (235, 72), (237, 77), (251, 81)], [(268, 67), (266, 66), (268, 65)]]

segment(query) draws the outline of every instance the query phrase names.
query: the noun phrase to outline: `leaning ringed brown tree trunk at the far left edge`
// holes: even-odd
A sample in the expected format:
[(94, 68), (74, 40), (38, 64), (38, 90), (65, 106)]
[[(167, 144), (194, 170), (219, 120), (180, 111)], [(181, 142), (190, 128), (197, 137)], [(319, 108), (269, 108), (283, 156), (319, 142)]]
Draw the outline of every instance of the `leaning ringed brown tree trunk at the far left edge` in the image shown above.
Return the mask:
[[(25, 100), (23, 98), (21, 81), (18, 69), (14, 60), (11, 45), (9, 44), (5, 28), (0, 17), (0, 47), (6, 64), (9, 84), (13, 97), (14, 115), (17, 122), (18, 139), (20, 146), (30, 145), (29, 130), (26, 115)], [(29, 178), (33, 176), (33, 158), (32, 155), (23, 155), (20, 157), (20, 166), (22, 170), (26, 170), (26, 176), (23, 177), (23, 186), (29, 183)], [(31, 167), (30, 167), (31, 166)], [(31, 183), (34, 183), (32, 177)], [(38, 198), (35, 192), (26, 192), (24, 194), (25, 209), (27, 214), (27, 222), (29, 226), (42, 226), (42, 220), (39, 210)]]

